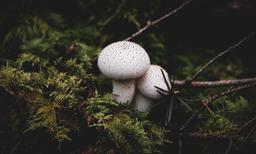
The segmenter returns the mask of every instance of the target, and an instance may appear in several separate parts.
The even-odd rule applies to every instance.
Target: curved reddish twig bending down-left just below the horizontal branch
[[[220,93],[220,94],[216,94],[216,95],[214,95],[210,100],[208,100],[208,101],[206,102],[206,105],[210,104],[210,102],[212,102],[212,101],[214,101],[214,100],[216,100],[216,99],[218,99],[218,98],[220,98],[220,97],[222,97],[222,96],[224,96],[224,95],[227,95],[227,94],[230,94],[230,93],[233,93],[233,92],[237,92],[237,91],[239,91],[239,90],[243,90],[243,89],[246,89],[246,88],[255,86],[255,85],[256,85],[256,82],[255,82],[255,83],[252,83],[252,84],[249,84],[249,85],[242,86],[242,87],[238,87],[238,88],[235,88],[235,89],[232,89],[232,90],[228,90],[228,91],[222,92],[222,93]],[[184,125],[181,127],[180,131],[184,130],[185,127],[187,126],[187,124],[188,124],[191,120],[193,120],[194,117],[195,117],[196,115],[198,115],[198,113],[204,109],[204,107],[205,107],[205,105],[203,105],[200,109],[198,109],[198,110],[184,123]]]

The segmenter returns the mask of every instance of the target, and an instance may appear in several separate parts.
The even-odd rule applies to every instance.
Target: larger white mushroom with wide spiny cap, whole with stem
[[[135,92],[133,80],[140,78],[149,66],[150,58],[145,50],[138,44],[128,41],[106,46],[98,58],[99,70],[113,79],[113,94],[116,94],[114,98],[118,102],[131,103]]]

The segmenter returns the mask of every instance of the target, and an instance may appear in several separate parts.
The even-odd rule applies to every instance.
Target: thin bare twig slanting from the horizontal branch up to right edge
[[[233,49],[237,48],[240,44],[242,44],[245,40],[247,40],[249,37],[251,37],[255,32],[252,32],[250,35],[248,35],[247,37],[245,37],[242,41],[240,41],[239,43],[237,43],[236,45],[230,46],[227,50],[225,50],[225,52],[221,53],[220,55],[218,55],[217,57],[215,57],[214,59],[212,59],[211,61],[209,61],[203,68],[201,68],[192,78],[188,79],[187,82],[190,83],[192,81],[194,81],[198,75],[200,75],[206,68],[208,68],[214,61],[216,61],[217,59],[219,59],[220,57],[222,57],[223,55],[227,54],[228,52],[231,52]]]

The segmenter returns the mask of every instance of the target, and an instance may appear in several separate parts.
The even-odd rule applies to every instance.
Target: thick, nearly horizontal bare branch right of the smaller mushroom
[[[174,81],[174,86],[176,87],[186,87],[186,88],[213,88],[213,87],[224,87],[224,86],[236,86],[245,85],[256,82],[256,78],[248,79],[236,79],[236,80],[223,80],[223,81],[203,81],[203,82],[191,82],[186,83],[183,81]]]

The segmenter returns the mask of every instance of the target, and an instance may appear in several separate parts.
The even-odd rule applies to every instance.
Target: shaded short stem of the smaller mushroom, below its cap
[[[135,90],[135,96],[133,99],[133,110],[141,112],[148,112],[146,109],[154,104],[152,99],[143,96],[138,90]]]

